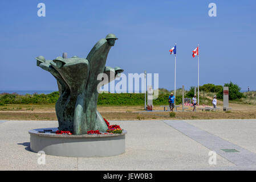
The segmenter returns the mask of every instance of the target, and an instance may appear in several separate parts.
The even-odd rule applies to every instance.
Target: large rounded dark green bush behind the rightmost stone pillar
[[[229,87],[229,100],[239,100],[243,96],[243,93],[240,92],[241,88],[237,84],[233,84],[233,82],[230,81],[229,84],[224,84],[224,86]],[[217,93],[218,99],[223,99],[223,88]]]

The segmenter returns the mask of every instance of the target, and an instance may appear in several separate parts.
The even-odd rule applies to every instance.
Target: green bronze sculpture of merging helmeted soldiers
[[[59,122],[59,130],[72,131],[75,135],[87,134],[89,130],[106,131],[104,119],[97,111],[99,96],[97,80],[100,73],[105,73],[110,82],[118,77],[123,69],[105,67],[108,52],[115,45],[116,36],[108,34],[99,40],[91,49],[87,58],[77,56],[64,59],[45,60],[43,56],[36,57],[37,65],[50,72],[57,80],[59,100],[55,110]]]

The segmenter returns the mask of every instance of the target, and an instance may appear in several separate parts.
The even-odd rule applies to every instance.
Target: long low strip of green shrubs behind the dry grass
[[[181,89],[178,89],[176,94],[176,104],[182,102]],[[188,93],[188,92],[185,92]],[[169,105],[168,97],[170,92],[165,89],[159,90],[159,97],[153,100],[153,105]],[[200,92],[200,105],[212,105],[212,99],[217,93],[214,92]],[[256,105],[256,92],[245,92],[244,98],[232,101],[237,104]],[[97,105],[113,106],[113,105],[144,105],[144,93],[100,93]],[[26,94],[20,96],[18,94],[0,94],[0,106],[7,106],[7,104],[17,105],[48,105],[55,104],[59,98],[59,92],[52,92],[51,94]],[[191,98],[185,95],[185,98]],[[218,98],[217,98],[218,99]],[[17,106],[19,107],[19,106]],[[30,107],[31,108],[31,107]],[[27,107],[25,108],[27,109]],[[27,109],[29,110],[29,109]],[[31,108],[34,110],[34,108]]]

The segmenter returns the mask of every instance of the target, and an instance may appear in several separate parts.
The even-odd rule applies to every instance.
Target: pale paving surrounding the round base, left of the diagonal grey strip
[[[128,131],[125,154],[105,158],[65,158],[46,155],[46,165],[29,150],[28,131],[57,127],[56,121],[9,121],[0,125],[0,170],[196,170],[235,165],[217,155],[209,165],[209,149],[163,121],[109,121]]]

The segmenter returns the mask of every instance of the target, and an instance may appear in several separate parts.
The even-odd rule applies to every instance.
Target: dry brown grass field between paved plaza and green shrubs
[[[230,111],[222,111],[222,102],[218,102],[218,111],[192,112],[192,107],[182,112],[178,108],[175,116],[170,117],[169,111],[154,106],[153,112],[144,111],[144,106],[98,106],[103,118],[108,120],[153,120],[153,119],[253,119],[256,118],[256,105],[231,102]],[[199,106],[202,107],[202,106]],[[156,111],[157,110],[157,111]],[[0,106],[0,120],[57,120],[55,105],[5,105]]]

